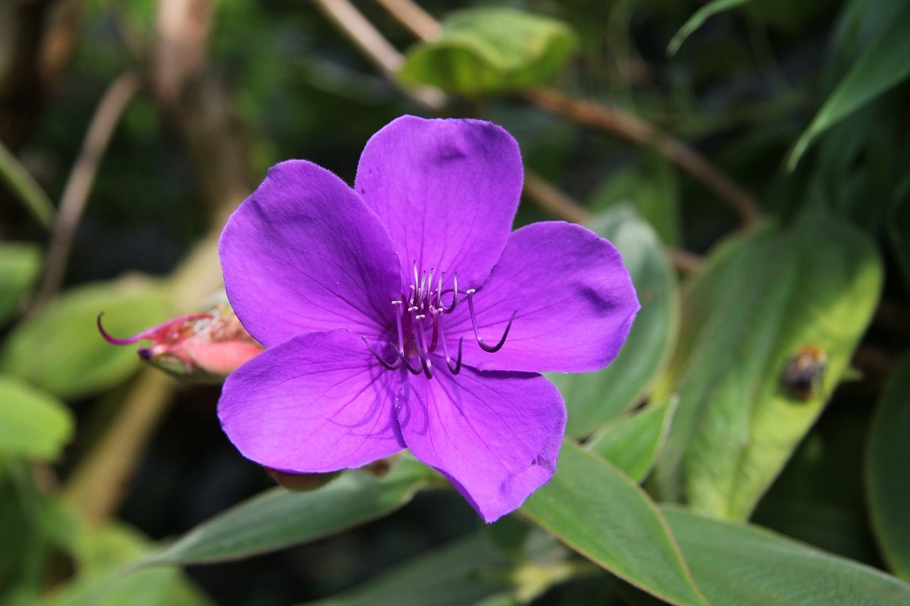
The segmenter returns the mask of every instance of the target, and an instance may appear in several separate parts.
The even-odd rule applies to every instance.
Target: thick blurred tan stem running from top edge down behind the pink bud
[[[227,215],[251,191],[248,183],[248,146],[223,86],[205,70],[208,0],[159,0],[156,69],[153,75],[159,108],[187,149],[198,187],[212,211],[212,228],[169,281],[177,313],[197,311],[205,298],[221,287],[217,240]],[[187,13],[188,11],[188,13]],[[195,11],[195,12],[194,12]],[[169,15],[169,16],[168,16]],[[174,15],[201,19],[182,24]],[[182,48],[183,52],[173,52]],[[188,61],[186,66],[165,66],[167,61]],[[173,88],[177,86],[177,88]],[[80,461],[65,490],[66,496],[89,520],[112,515],[136,463],[159,419],[167,411],[178,383],[157,369],[144,369],[130,386],[123,406],[105,435]]]

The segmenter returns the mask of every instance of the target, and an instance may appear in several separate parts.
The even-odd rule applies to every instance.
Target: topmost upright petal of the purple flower
[[[354,188],[388,227],[412,281],[444,271],[478,288],[500,257],[521,196],[521,153],[500,126],[401,116],[372,136]]]

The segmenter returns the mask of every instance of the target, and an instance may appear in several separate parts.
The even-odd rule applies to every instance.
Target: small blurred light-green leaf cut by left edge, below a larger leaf
[[[20,379],[0,376],[0,455],[55,460],[72,436],[66,404]]]

